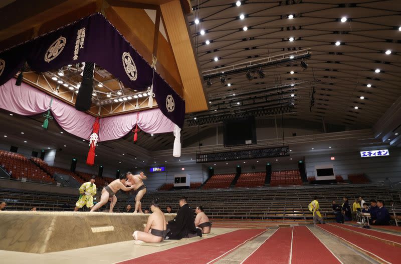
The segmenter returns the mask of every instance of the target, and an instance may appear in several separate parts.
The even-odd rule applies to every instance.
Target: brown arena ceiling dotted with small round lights
[[[187,115],[188,125],[227,115],[283,113],[351,129],[371,127],[401,95],[401,1],[192,0],[191,5],[188,23],[210,109]],[[305,69],[298,60],[250,70],[248,77],[223,73],[253,60],[296,58],[305,49],[311,54]],[[211,73],[220,75],[209,79]]]

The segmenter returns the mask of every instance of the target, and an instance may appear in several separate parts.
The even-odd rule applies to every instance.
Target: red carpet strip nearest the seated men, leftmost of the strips
[[[176,246],[164,251],[132,258],[124,264],[206,264],[245,242],[261,234],[266,229],[242,229],[230,233],[205,238],[197,242]],[[141,246],[141,245],[139,245]],[[217,259],[216,259],[217,260]]]

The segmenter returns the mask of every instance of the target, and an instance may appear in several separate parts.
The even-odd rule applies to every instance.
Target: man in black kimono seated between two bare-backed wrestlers
[[[186,197],[179,198],[177,216],[167,222],[166,239],[181,239],[194,236],[202,236],[202,230],[195,228],[193,210],[186,203]],[[200,230],[200,232],[199,232]]]

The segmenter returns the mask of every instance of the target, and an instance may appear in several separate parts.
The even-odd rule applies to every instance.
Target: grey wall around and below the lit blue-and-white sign
[[[348,174],[365,173],[371,181],[381,181],[386,177],[393,182],[401,180],[401,148],[390,148],[389,156],[361,158],[358,151],[330,155],[305,156],[308,177],[315,175],[315,165],[332,163],[334,173],[344,179]],[[335,160],[330,160],[334,156]]]

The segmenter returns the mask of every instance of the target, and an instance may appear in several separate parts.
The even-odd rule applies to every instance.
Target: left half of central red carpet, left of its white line
[[[291,235],[292,227],[280,227],[242,263],[287,264],[291,251]]]

